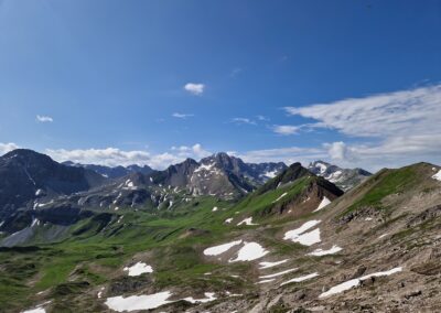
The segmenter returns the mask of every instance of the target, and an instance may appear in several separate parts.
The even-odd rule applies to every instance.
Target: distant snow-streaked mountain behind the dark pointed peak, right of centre
[[[355,187],[372,175],[372,173],[363,169],[342,169],[324,161],[311,162],[308,165],[308,170],[334,183],[343,191]]]

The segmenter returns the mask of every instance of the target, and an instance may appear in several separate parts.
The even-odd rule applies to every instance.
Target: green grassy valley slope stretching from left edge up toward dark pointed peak
[[[95,287],[108,283],[122,273],[118,271],[133,255],[149,251],[151,265],[155,269],[153,285],[157,290],[176,287],[192,287],[192,290],[240,291],[255,285],[244,279],[251,271],[249,263],[214,263],[202,258],[202,250],[211,245],[251,234],[259,238],[275,255],[292,253],[301,246],[276,240],[277,228],[268,228],[254,234],[257,226],[236,224],[254,216],[260,225],[266,220],[261,212],[287,193],[280,202],[290,201],[308,186],[311,177],[302,177],[295,183],[266,193],[252,193],[237,205],[204,197],[197,202],[182,204],[175,211],[133,212],[121,208],[112,213],[111,224],[103,227],[100,215],[82,220],[67,234],[69,239],[58,244],[40,245],[41,249],[21,252],[13,249],[0,253],[0,307],[12,312],[41,302],[39,292],[50,290],[45,299],[54,300],[60,310],[63,303],[76,303],[87,307],[96,303],[96,293],[85,295]],[[218,211],[213,212],[217,206]],[[117,220],[120,219],[120,223]],[[234,218],[225,224],[226,218]],[[106,217],[107,218],[107,217]],[[268,222],[268,220],[267,220]],[[189,228],[204,229],[203,236],[182,235]],[[75,234],[75,236],[69,236]],[[203,276],[205,272],[213,276]],[[73,274],[74,273],[74,274]],[[240,274],[234,279],[230,274]],[[85,282],[85,283],[84,283]],[[77,301],[77,294],[80,303]]]

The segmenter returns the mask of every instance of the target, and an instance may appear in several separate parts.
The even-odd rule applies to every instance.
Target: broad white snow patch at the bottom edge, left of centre
[[[117,312],[150,310],[173,302],[168,301],[172,293],[170,291],[158,292],[149,295],[130,295],[127,298],[118,295],[107,298],[105,304]]]

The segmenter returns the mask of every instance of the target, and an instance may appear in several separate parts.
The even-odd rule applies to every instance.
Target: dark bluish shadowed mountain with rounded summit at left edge
[[[32,150],[18,149],[0,156],[0,217],[31,206],[42,196],[67,195],[105,183],[94,171],[72,168]]]

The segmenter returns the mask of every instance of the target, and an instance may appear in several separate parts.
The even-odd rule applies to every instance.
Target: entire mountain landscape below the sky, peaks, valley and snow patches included
[[[0,156],[0,312],[440,312],[441,168]]]

